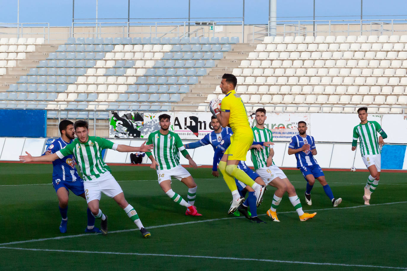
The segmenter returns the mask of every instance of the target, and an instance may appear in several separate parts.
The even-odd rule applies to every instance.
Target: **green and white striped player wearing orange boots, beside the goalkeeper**
[[[264,127],[264,122],[267,119],[266,110],[264,108],[258,108],[256,110],[256,126],[252,128],[254,141],[273,141],[273,135],[271,131]],[[277,218],[277,207],[281,202],[281,198],[287,191],[288,198],[291,204],[293,204],[295,210],[300,217],[300,221],[306,221],[313,218],[317,213],[309,214],[302,210],[300,198],[295,192],[294,186],[285,176],[284,172],[279,169],[273,161],[274,150],[273,145],[269,147],[263,147],[263,150],[252,149],[252,162],[256,173],[263,179],[265,184],[276,187],[276,192],[273,195],[273,201],[271,202],[271,208],[267,211],[267,215],[273,220],[279,222]]]

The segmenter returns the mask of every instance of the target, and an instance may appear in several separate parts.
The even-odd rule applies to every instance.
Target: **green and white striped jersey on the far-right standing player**
[[[353,140],[359,138],[362,156],[381,153],[377,137],[378,132],[382,133],[383,130],[377,121],[368,121],[366,124],[358,124],[353,128]]]

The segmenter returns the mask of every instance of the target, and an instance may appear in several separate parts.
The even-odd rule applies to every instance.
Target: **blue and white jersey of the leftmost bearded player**
[[[72,141],[73,140],[71,140],[70,143],[72,143]],[[69,143],[66,143],[60,137],[59,139],[55,139],[55,141],[53,141],[51,145],[49,145],[47,150],[50,150],[51,153],[55,153],[59,150],[62,150],[68,144]],[[74,182],[76,180],[81,180],[81,177],[79,177],[78,171],[75,167],[75,158],[73,155],[68,155],[61,159],[57,159],[53,161],[52,164],[54,167],[52,173],[53,180],[59,179],[61,181],[66,182]]]

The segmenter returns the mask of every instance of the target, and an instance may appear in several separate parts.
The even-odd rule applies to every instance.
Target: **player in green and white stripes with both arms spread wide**
[[[74,129],[78,138],[55,154],[33,157],[26,152],[27,155],[20,156],[20,161],[23,161],[23,163],[31,161],[51,162],[73,154],[83,175],[86,202],[88,202],[92,215],[101,218],[102,233],[107,234],[107,216],[99,209],[99,201],[103,192],[105,195],[112,197],[123,208],[130,219],[138,226],[143,237],[150,236],[150,232],[144,228],[136,210],[126,201],[123,190],[110,173],[111,170],[103,161],[101,153],[104,149],[117,150],[118,152],[146,152],[151,150],[153,146],[144,145],[144,142],[140,147],[130,147],[128,145],[114,144],[101,137],[90,137],[88,122],[83,120],[76,121]]]

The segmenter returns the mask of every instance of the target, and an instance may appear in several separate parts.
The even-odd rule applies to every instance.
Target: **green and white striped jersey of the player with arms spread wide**
[[[72,143],[66,145],[62,150],[56,152],[59,158],[73,154],[81,169],[83,180],[94,180],[102,173],[111,171],[105,164],[102,157],[102,150],[116,150],[117,144],[101,137],[89,137],[88,141],[81,143],[79,139],[74,139]]]

